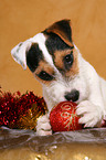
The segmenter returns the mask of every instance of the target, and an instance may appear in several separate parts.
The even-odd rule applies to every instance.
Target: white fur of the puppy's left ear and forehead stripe
[[[43,33],[38,33],[35,36],[19,43],[11,50],[11,55],[13,56],[14,61],[22,65],[24,70],[26,70],[26,57],[25,52],[30,49],[32,43],[39,43],[39,47],[44,52],[44,57],[46,62],[53,66],[53,61],[51,55],[47,53],[45,47],[45,36]]]

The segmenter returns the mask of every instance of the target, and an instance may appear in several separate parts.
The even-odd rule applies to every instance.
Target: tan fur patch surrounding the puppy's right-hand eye
[[[56,51],[54,53],[54,63],[55,66],[66,76],[66,77],[71,77],[71,76],[75,76],[80,68],[78,68],[78,62],[77,62],[77,51],[75,49],[73,49],[73,56],[74,56],[74,61],[73,64],[70,68],[70,71],[66,71],[64,67],[64,62],[63,58],[64,56],[66,56],[67,54],[71,53],[72,50],[65,50],[65,51]]]

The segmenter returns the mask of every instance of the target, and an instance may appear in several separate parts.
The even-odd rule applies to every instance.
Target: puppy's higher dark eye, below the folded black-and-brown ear
[[[64,66],[66,70],[70,70],[70,67],[73,64],[73,51],[71,52],[71,54],[67,54],[66,56],[64,56],[63,62],[64,62]]]

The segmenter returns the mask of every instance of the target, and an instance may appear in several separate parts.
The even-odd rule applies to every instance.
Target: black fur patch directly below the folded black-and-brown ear
[[[46,34],[49,38],[45,41],[45,45],[51,55],[54,55],[55,51],[63,51],[65,49],[72,49],[55,33],[46,33]]]

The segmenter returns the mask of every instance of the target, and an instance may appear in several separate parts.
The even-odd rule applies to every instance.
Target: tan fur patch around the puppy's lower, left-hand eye
[[[41,83],[43,83],[43,84],[46,84],[46,85],[49,85],[50,83],[51,83],[51,81],[43,81],[43,79],[41,79],[38,75],[40,74],[40,72],[42,72],[42,71],[44,71],[44,72],[46,72],[47,74],[50,74],[50,75],[54,75],[54,70],[53,70],[53,67],[51,67],[45,61],[41,61],[40,63],[39,63],[39,66],[38,66],[38,68],[35,70],[35,72],[33,73],[33,75],[36,77],[36,79],[38,81],[40,81]]]

